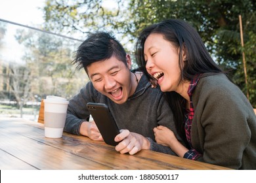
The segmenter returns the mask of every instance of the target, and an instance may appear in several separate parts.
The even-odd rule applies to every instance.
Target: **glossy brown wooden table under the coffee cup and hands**
[[[0,118],[0,169],[226,169],[168,154],[142,150],[131,156],[114,146],[63,133],[44,136],[43,124],[21,118]]]

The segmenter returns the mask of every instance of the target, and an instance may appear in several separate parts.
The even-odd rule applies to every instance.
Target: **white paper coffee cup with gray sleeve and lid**
[[[47,96],[43,102],[45,103],[45,137],[61,138],[69,102],[54,95]]]

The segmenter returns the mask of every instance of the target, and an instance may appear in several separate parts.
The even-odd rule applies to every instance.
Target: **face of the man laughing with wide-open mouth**
[[[125,103],[134,92],[127,56],[127,65],[116,57],[97,61],[87,67],[88,76],[95,89],[118,104]]]

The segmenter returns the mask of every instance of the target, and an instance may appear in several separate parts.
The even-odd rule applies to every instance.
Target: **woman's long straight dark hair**
[[[144,59],[144,43],[147,37],[152,33],[163,35],[163,38],[179,48],[179,68],[181,69],[181,80],[191,80],[196,75],[201,77],[223,73],[221,68],[213,61],[209,52],[205,48],[198,32],[183,20],[164,20],[158,24],[153,24],[145,29],[139,35],[136,51],[137,64],[152,83],[154,78],[146,71],[146,62]],[[182,48],[186,50],[186,61],[182,60]],[[173,111],[175,126],[179,135],[186,142],[184,132],[184,112],[186,108],[186,99],[176,92],[164,92],[165,97]]]

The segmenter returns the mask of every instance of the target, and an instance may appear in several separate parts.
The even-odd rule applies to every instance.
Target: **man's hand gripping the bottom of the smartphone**
[[[150,148],[150,142],[146,137],[130,132],[127,129],[121,130],[121,133],[116,136],[115,141],[119,142],[116,146],[116,151],[121,154],[129,152],[129,154],[133,155],[142,149]]]

